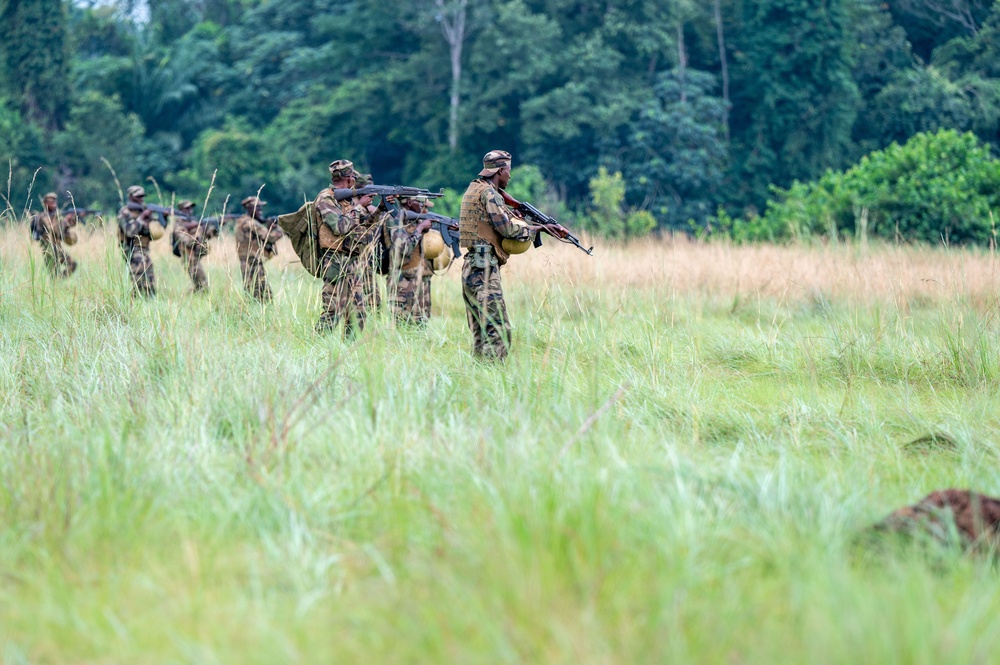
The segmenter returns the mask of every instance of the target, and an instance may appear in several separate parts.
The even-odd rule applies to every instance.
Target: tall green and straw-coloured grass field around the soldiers
[[[0,232],[3,663],[1000,662],[994,566],[857,545],[1000,494],[989,252],[547,247],[494,367],[457,270],[345,344],[288,247],[133,301],[83,235]]]

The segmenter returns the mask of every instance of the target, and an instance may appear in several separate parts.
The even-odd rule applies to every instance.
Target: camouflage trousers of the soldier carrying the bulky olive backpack
[[[365,327],[365,319],[381,304],[375,270],[367,258],[328,254],[323,258],[323,313],[317,332],[335,329],[344,321],[351,337]]]

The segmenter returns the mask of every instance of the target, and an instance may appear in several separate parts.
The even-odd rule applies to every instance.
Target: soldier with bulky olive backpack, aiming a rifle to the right
[[[370,208],[370,194],[337,201],[334,190],[356,187],[356,174],[346,159],[331,162],[331,185],[315,202],[323,271],[323,313],[316,330],[332,330],[344,320],[348,337],[364,328],[365,318],[380,304],[375,264],[384,224],[384,213]]]

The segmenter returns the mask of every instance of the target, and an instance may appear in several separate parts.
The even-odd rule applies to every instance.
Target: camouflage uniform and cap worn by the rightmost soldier
[[[459,241],[469,248],[462,266],[462,299],[472,331],[473,352],[477,357],[504,360],[510,350],[510,322],[500,284],[500,267],[510,255],[502,241],[528,241],[533,237],[528,225],[515,217],[499,191],[488,180],[503,166],[510,154],[493,150],[483,158],[483,170],[469,184],[462,197],[459,214]]]

